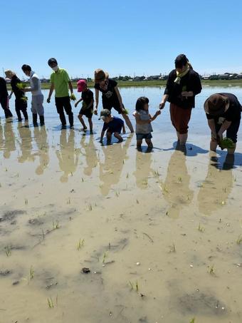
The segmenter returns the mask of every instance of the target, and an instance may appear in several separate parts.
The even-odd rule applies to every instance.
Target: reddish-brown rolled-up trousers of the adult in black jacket
[[[171,103],[169,108],[172,125],[178,133],[184,135],[188,131],[188,124],[191,118],[191,108],[180,108]]]

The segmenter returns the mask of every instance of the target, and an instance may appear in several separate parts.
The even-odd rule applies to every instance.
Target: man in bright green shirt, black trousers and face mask
[[[48,66],[53,69],[51,74],[51,88],[48,94],[47,102],[51,102],[51,95],[55,89],[55,100],[56,100],[56,109],[59,113],[61,123],[63,128],[65,128],[65,113],[68,115],[70,128],[73,127],[73,111],[70,104],[70,96],[68,92],[68,87],[70,88],[70,93],[73,94],[73,86],[70,82],[67,71],[64,68],[59,68],[56,58],[50,58],[48,60]]]

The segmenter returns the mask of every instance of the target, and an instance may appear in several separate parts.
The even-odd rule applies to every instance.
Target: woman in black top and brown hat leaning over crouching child
[[[125,107],[122,104],[122,98],[120,96],[120,91],[117,88],[117,82],[108,77],[108,73],[105,73],[101,69],[95,71],[95,98],[96,107],[95,114],[98,114],[98,101],[99,101],[99,91],[102,92],[102,107],[111,111],[112,108],[122,114],[122,118],[125,119],[127,126],[130,128],[130,132],[134,132],[134,128],[130,121],[129,116],[125,113]]]

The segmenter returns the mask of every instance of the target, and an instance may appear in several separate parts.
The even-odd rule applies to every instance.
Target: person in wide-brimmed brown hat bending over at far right
[[[234,143],[234,148],[228,148],[228,154],[233,154],[241,123],[241,103],[238,98],[231,93],[215,93],[206,99],[204,110],[211,129],[210,150],[216,151],[226,131],[226,137]]]

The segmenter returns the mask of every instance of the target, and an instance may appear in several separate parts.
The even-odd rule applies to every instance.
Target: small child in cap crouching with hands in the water
[[[102,121],[104,122],[100,136],[100,143],[102,143],[102,139],[105,135],[106,130],[107,144],[111,143],[112,133],[114,134],[115,138],[118,139],[118,142],[122,143],[122,137],[120,135],[121,130],[123,131],[123,133],[125,133],[125,123],[122,121],[122,119],[112,116],[110,111],[107,109],[101,111],[100,119],[102,119]]]

